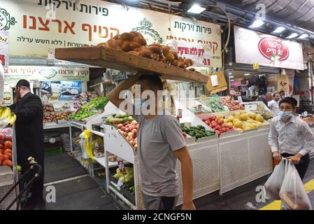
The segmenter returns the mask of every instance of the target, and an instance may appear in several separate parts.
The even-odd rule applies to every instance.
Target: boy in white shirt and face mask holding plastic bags
[[[279,102],[279,116],[271,120],[269,145],[273,158],[279,162],[281,158],[289,158],[304,179],[311,151],[314,148],[314,135],[310,127],[294,116],[297,100],[285,97]]]

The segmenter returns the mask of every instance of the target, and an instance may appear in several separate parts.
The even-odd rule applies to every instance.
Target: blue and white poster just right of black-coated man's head
[[[80,81],[41,82],[41,98],[43,101],[76,101],[82,93]]]

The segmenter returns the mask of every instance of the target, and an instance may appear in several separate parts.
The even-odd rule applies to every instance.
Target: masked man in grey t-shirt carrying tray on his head
[[[120,106],[124,99],[120,99],[119,94],[123,90],[129,90],[136,83],[141,86],[141,92],[150,90],[153,94],[149,99],[146,97],[136,99],[136,102],[141,100],[140,104],[145,104],[149,111],[134,116],[139,121],[138,155],[145,209],[169,210],[176,208],[179,195],[176,158],[181,162],[182,209],[195,209],[192,202],[192,160],[183,139],[180,123],[174,116],[157,114],[160,109],[157,92],[163,90],[162,80],[158,76],[146,74],[130,76],[117,85],[115,90],[110,92],[108,98],[115,106],[130,113],[129,110]],[[154,103],[155,106],[152,106]],[[130,103],[128,105],[131,106]],[[144,107],[141,105],[131,106],[133,114],[137,109],[142,109],[143,112]]]

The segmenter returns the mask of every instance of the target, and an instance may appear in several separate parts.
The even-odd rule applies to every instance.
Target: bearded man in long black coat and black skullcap
[[[41,99],[31,93],[27,80],[19,80],[15,88],[14,104],[10,109],[16,115],[15,136],[17,148],[17,164],[22,167],[22,174],[29,169],[29,157],[35,158],[43,167],[43,104]],[[43,209],[43,174],[36,179],[31,190],[31,198],[27,202],[29,209]]]

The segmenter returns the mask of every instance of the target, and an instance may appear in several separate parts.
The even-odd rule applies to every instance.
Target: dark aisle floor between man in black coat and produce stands
[[[48,186],[55,187],[56,202],[46,203],[46,210],[117,209],[99,184],[67,153],[45,156],[44,190]]]

